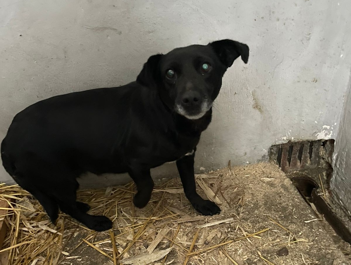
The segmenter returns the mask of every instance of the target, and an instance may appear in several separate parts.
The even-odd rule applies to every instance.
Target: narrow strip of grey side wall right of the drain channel
[[[344,102],[344,115],[336,139],[333,169],[331,191],[351,213],[351,86]]]

